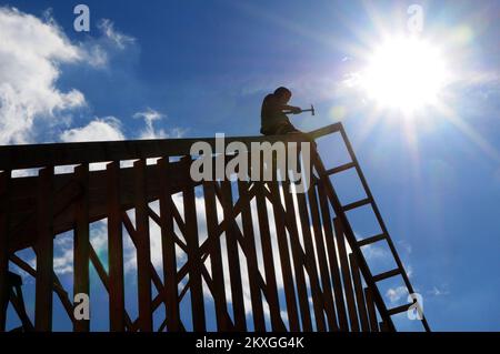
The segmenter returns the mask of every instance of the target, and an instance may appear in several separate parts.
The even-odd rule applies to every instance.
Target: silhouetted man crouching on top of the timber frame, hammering
[[[261,129],[260,132],[264,135],[280,135],[288,133],[300,133],[290,120],[288,113],[298,114],[302,110],[298,107],[288,105],[291,98],[291,91],[287,88],[278,88],[274,93],[269,93],[263,102],[260,113]]]

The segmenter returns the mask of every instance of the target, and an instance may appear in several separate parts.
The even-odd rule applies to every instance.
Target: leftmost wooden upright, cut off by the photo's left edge
[[[0,172],[0,332],[6,331],[7,306],[9,303],[9,202],[10,171]]]

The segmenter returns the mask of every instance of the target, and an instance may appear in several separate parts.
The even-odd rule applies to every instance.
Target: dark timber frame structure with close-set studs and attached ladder
[[[384,280],[399,277],[409,294],[413,289],[341,123],[308,139],[329,134],[340,134],[351,161],[326,169],[314,149],[307,193],[294,193],[289,180],[193,182],[191,145],[214,146],[214,139],[0,146],[0,332],[52,331],[54,294],[72,330],[90,331],[92,316],[73,315],[78,293],[108,299],[110,331],[396,331],[392,316],[409,321],[406,312],[419,304],[389,309],[384,301],[379,289]],[[226,143],[303,139],[226,138]],[[94,163],[104,169],[93,170]],[[68,165],[74,170],[54,173]],[[22,169],[39,171],[12,173]],[[357,173],[366,196],[342,205],[330,176],[344,171]],[[362,206],[374,213],[381,232],[358,240],[348,212]],[[102,220],[104,256],[91,242],[91,224]],[[159,262],[151,253],[153,225],[161,240]],[[54,240],[64,234],[73,244],[72,294],[54,272]],[[126,237],[137,262],[131,283],[124,274]],[[362,250],[381,242],[396,267],[372,274]],[[27,249],[36,261],[18,255]],[[91,266],[104,294],[90,292]],[[34,280],[32,304],[26,304],[13,270]],[[137,318],[126,305],[130,286],[137,286]],[[9,314],[21,325],[9,328]],[[418,322],[430,331],[426,317]]]

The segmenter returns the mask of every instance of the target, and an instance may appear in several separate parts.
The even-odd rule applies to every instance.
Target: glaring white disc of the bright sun
[[[447,68],[437,48],[417,38],[392,38],[377,48],[362,75],[367,94],[381,108],[407,115],[439,103]]]

